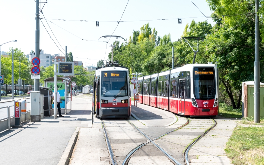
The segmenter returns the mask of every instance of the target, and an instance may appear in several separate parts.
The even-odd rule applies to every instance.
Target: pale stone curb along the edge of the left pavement
[[[79,130],[80,130],[80,127],[76,127],[70,140],[68,141],[68,144],[65,150],[62,153],[62,157],[60,158],[58,165],[67,165],[69,163],[69,158],[71,157],[73,147],[77,141]]]

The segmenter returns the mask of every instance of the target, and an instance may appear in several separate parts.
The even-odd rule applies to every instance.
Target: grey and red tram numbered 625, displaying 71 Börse
[[[96,68],[93,111],[100,118],[128,118],[131,116],[128,68],[122,66]]]

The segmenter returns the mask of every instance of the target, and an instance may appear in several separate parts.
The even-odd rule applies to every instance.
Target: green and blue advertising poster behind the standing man
[[[47,82],[47,87],[52,88],[52,94],[54,92],[54,82]],[[65,108],[65,82],[57,82],[58,92],[60,95],[60,106],[62,109]],[[54,104],[52,104],[52,108],[54,108]]]

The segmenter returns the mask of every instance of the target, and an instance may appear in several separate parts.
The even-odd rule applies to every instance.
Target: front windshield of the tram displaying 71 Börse
[[[126,71],[102,72],[102,96],[120,97],[128,95]]]

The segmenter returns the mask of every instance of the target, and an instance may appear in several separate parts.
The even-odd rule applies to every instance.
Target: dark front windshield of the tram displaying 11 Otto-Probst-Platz
[[[215,71],[213,67],[195,67],[193,80],[196,99],[215,99]]]

